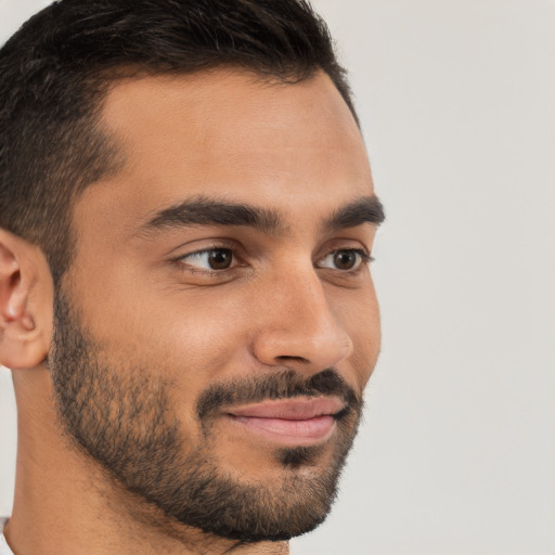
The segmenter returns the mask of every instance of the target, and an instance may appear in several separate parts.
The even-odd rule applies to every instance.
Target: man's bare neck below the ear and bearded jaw
[[[170,520],[74,447],[59,424],[48,371],[14,372],[14,383],[17,468],[4,533],[17,555],[288,553],[286,542],[245,544]]]

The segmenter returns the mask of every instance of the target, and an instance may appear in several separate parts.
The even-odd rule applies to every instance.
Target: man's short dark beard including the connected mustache
[[[111,364],[102,352],[59,293],[48,362],[59,420],[70,442],[135,502],[160,509],[172,529],[185,525],[242,542],[288,540],[325,519],[362,412],[362,398],[335,370],[211,384],[196,399],[189,433],[163,373],[147,364]],[[214,450],[222,406],[299,396],[345,401],[331,444],[276,448],[279,478],[272,473],[263,482],[248,480],[241,468],[222,468]],[[195,444],[195,437],[203,440]]]

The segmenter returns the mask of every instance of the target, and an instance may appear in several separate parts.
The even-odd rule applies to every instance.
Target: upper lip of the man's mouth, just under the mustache
[[[283,418],[305,421],[323,415],[334,415],[345,409],[345,402],[337,397],[298,397],[246,404],[227,411],[233,416],[254,418]]]

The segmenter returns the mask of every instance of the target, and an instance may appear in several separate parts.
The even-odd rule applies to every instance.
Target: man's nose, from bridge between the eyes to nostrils
[[[253,343],[264,365],[318,373],[352,352],[352,340],[333,313],[315,271],[272,280]]]

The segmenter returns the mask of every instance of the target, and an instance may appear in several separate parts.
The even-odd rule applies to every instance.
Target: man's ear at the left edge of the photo
[[[31,369],[46,359],[53,291],[42,250],[0,229],[0,364]]]

